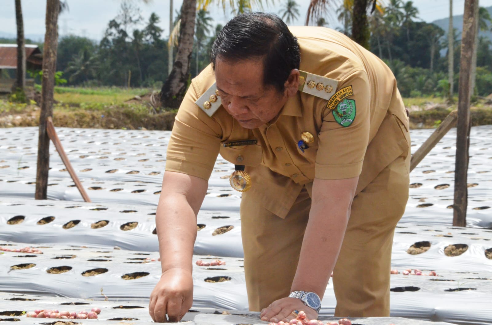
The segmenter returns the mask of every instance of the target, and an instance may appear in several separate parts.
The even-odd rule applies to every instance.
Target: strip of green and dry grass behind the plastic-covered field
[[[39,86],[36,86],[39,88]],[[152,112],[149,88],[120,87],[55,87],[53,120],[58,127],[171,130],[176,110],[159,114]],[[140,96],[143,100],[134,99]],[[410,108],[410,127],[435,128],[449,112],[457,108],[458,98],[448,105],[439,97],[403,98]],[[32,99],[28,104],[0,96],[0,127],[37,126],[39,106]],[[492,124],[492,106],[486,99],[478,99],[470,109],[473,126]]]

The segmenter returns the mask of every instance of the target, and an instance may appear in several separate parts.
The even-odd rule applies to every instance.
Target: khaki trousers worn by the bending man
[[[408,199],[409,160],[410,155],[397,158],[353,200],[332,278],[337,317],[390,314],[391,249],[395,226]],[[312,183],[303,188],[285,219],[250,202],[247,195],[241,201],[251,311],[260,311],[290,293],[309,215],[311,188]],[[319,257],[323,258],[322,251]]]

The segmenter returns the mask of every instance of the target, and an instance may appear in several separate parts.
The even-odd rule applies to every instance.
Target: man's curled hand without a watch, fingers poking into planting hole
[[[191,272],[180,268],[169,269],[162,274],[152,291],[149,314],[157,323],[179,322],[192,303]]]

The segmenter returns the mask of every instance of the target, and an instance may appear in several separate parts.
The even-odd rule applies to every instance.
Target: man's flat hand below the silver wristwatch
[[[310,320],[315,320],[318,318],[318,313],[307,307],[300,299],[288,297],[272,302],[268,308],[264,308],[261,311],[260,317],[262,321],[266,322],[278,323],[282,321],[288,323],[296,318],[292,313],[294,310],[303,310],[306,313],[307,318]]]

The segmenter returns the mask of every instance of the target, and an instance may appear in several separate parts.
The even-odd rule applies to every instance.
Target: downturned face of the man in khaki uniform
[[[255,129],[274,119],[287,94],[263,84],[263,61],[230,62],[216,58],[215,81],[222,106],[242,127]]]

